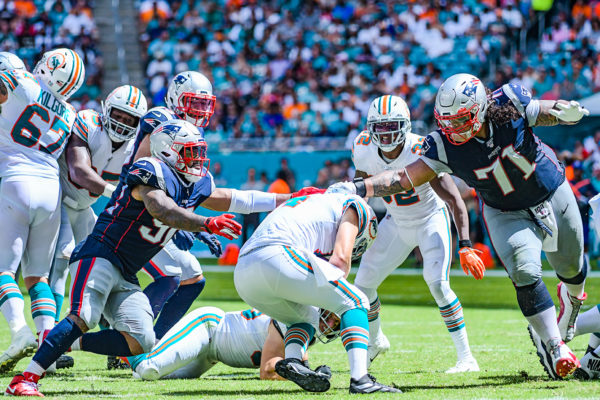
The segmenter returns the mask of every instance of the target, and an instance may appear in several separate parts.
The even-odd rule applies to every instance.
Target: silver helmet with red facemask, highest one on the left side
[[[208,78],[195,71],[175,75],[165,97],[167,107],[179,118],[202,128],[208,126],[216,101]]]

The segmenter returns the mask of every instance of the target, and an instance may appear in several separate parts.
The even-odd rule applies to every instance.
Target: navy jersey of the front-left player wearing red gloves
[[[127,173],[116,202],[98,217],[94,230],[71,256],[71,262],[101,257],[109,260],[132,283],[135,274],[171,240],[177,229],[164,225],[146,210],[131,189],[145,185],[164,190],[178,206],[195,209],[214,190],[207,173],[196,183],[186,183],[167,164],[156,158],[141,158]]]

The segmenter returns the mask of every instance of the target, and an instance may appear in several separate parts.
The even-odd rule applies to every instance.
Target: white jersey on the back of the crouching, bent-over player
[[[265,218],[240,254],[266,245],[284,245],[328,257],[333,253],[342,216],[349,207],[358,213],[360,235],[369,224],[368,205],[361,197],[326,193],[290,199]]]

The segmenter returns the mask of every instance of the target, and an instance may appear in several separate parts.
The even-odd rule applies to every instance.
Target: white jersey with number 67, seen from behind
[[[32,74],[4,71],[8,99],[0,105],[0,176],[58,179],[57,159],[75,122],[75,109]]]

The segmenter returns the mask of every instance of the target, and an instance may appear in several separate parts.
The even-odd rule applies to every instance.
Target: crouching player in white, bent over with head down
[[[362,198],[318,194],[277,208],[240,250],[235,287],[246,303],[286,324],[285,359],[275,370],[305,390],[324,392],[330,386],[328,376],[301,361],[315,334],[319,307],[341,317],[350,392],[400,392],[367,374],[369,303],[346,280],[352,259],[376,234],[375,213]]]

